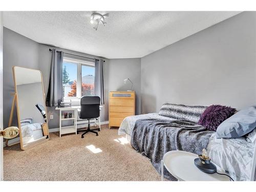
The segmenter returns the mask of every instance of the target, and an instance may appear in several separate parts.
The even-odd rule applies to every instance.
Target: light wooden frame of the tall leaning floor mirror
[[[34,71],[38,71],[41,74],[41,84],[42,84],[42,97],[44,99],[44,106],[46,109],[46,122],[43,123],[44,127],[42,126],[42,132],[46,131],[48,132],[48,138],[44,139],[44,140],[39,140],[39,141],[35,141],[32,142],[30,145],[24,147],[23,145],[23,137],[22,137],[22,130],[21,130],[21,125],[20,125],[20,115],[19,115],[19,104],[18,104],[18,93],[17,93],[17,84],[16,84],[16,77],[15,77],[15,68],[24,68],[24,67],[19,67],[19,66],[13,66],[12,67],[12,72],[13,72],[13,81],[14,81],[14,90],[15,90],[15,95],[16,95],[16,109],[17,109],[17,119],[18,119],[18,128],[19,128],[19,140],[20,140],[20,148],[22,150],[27,150],[28,148],[34,147],[36,145],[39,145],[41,143],[44,143],[46,141],[48,141],[50,139],[49,136],[49,126],[48,126],[48,115],[47,115],[47,109],[46,109],[46,98],[45,98],[45,90],[44,90],[44,82],[42,80],[42,72],[40,70],[36,70],[36,69],[30,69],[30,68],[24,68],[24,69],[29,69],[29,70],[34,70]]]

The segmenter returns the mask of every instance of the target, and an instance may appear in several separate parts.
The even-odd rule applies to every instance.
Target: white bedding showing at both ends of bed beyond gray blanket
[[[126,134],[131,138],[136,120],[147,118],[174,120],[158,113],[129,116],[122,121],[118,135]],[[250,180],[254,144],[249,143],[245,138],[217,139],[213,134],[209,139],[207,152],[212,162],[225,169],[234,180]]]

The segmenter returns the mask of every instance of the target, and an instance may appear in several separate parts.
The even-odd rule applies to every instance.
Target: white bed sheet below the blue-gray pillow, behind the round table
[[[236,181],[249,181],[254,144],[246,138],[217,139],[213,134],[210,137],[207,153],[212,162],[227,170]]]

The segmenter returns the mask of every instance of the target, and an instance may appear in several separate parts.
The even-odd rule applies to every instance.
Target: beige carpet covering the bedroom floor
[[[35,181],[159,181],[150,160],[137,153],[103,125],[99,136],[81,139],[70,134],[21,151],[19,144],[4,148],[5,180]],[[89,147],[89,148],[88,148]]]

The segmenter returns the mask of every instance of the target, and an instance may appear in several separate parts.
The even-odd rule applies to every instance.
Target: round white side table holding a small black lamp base
[[[194,164],[198,155],[184,151],[170,151],[164,154],[161,162],[161,178],[163,181],[163,166],[179,181],[229,181],[224,175],[207,174],[202,172]],[[217,166],[218,173],[224,173]]]

